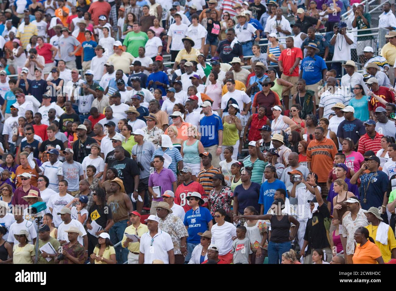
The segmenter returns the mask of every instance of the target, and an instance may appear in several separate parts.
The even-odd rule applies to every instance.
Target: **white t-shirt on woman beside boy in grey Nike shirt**
[[[211,244],[217,245],[219,248],[219,255],[222,256],[229,253],[232,249],[233,242],[231,238],[236,236],[236,227],[234,224],[225,221],[222,226],[219,226],[216,223],[212,226],[211,233]]]

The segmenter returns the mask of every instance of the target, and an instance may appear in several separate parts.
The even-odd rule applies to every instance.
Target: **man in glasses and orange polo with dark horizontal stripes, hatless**
[[[307,148],[308,170],[318,175],[318,186],[322,189],[322,196],[327,196],[326,181],[333,168],[333,160],[337,154],[337,146],[331,139],[324,136],[324,129],[320,126],[314,131],[315,139]]]

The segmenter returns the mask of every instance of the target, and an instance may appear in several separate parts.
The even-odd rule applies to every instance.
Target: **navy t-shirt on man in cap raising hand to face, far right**
[[[380,207],[384,200],[384,193],[388,189],[388,175],[383,171],[376,171],[361,175],[360,181],[362,182],[360,186],[362,208],[368,210],[370,207]],[[367,200],[366,203],[363,202],[364,198]]]

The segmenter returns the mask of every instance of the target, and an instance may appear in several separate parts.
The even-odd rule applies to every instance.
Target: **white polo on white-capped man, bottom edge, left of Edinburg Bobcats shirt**
[[[140,252],[145,255],[145,264],[152,264],[154,260],[161,260],[169,264],[168,251],[173,249],[171,236],[158,228],[158,233],[152,238],[150,231],[140,238]]]

